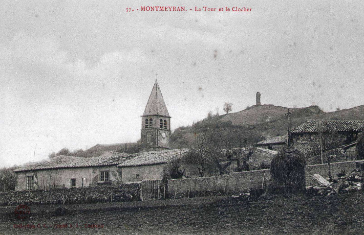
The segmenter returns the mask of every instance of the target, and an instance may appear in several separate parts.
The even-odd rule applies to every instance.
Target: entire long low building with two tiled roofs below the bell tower
[[[195,160],[192,149],[136,154],[108,151],[93,158],[57,156],[49,161],[28,164],[14,170],[17,174],[16,190],[93,187],[164,177],[169,179],[169,170],[173,165],[178,165],[185,176],[197,177],[198,163]]]

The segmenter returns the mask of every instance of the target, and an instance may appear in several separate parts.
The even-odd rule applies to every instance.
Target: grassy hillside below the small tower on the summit
[[[192,126],[177,128],[171,136],[172,147],[193,146],[194,135],[201,133],[206,127],[216,129],[217,133],[223,136],[240,133],[253,142],[283,135],[287,131],[288,109],[291,112],[292,127],[300,125],[307,119],[364,119],[364,105],[329,113],[323,112],[318,106],[306,108],[252,106],[236,113],[205,118]]]

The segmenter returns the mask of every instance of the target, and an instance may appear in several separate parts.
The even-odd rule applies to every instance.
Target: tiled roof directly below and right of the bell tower
[[[122,164],[119,164],[118,166],[123,167],[167,163],[168,161],[180,155],[184,155],[190,151],[192,150],[189,148],[181,148],[139,153],[134,157],[128,158],[126,161],[124,161]]]

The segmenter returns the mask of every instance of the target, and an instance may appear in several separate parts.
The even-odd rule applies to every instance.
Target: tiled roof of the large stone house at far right
[[[316,125],[322,122],[322,127],[335,132],[361,132],[364,131],[364,120],[307,120],[295,129],[292,134],[316,133]]]

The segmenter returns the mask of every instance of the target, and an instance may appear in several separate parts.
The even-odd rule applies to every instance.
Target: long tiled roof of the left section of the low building
[[[94,157],[94,158],[82,158],[82,157],[60,155],[47,161],[26,164],[21,168],[14,170],[14,172],[26,171],[26,170],[54,169],[54,168],[117,165],[122,163],[132,155],[133,154],[116,153],[110,151],[99,157]]]

